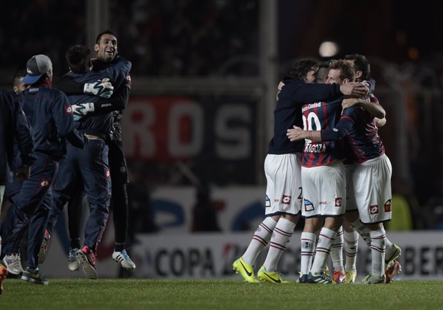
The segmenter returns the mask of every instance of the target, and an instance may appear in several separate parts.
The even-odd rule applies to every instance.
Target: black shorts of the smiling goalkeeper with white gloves
[[[111,140],[107,138],[106,143],[109,147],[109,170],[111,170],[112,184],[129,183],[127,176],[127,165],[123,143],[120,140]]]

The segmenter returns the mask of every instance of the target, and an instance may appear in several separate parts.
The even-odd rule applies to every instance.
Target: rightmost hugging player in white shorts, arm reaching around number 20
[[[341,71],[345,64],[332,66],[329,71],[330,80],[345,82],[341,77]],[[363,102],[362,102],[363,101]],[[343,100],[343,105],[370,104],[361,99]],[[379,118],[384,118],[384,110],[379,106]],[[368,226],[371,239],[372,267],[371,273],[363,282],[368,284],[385,283],[385,250],[386,232],[383,221],[389,221],[391,217],[390,176],[392,167],[389,158],[384,154],[384,147],[377,134],[374,117],[361,107],[352,107],[343,111],[340,121],[332,129],[321,131],[302,130],[296,128],[290,135],[291,140],[309,138],[316,141],[339,141],[347,135],[347,143],[352,148],[352,158],[356,162],[352,173],[351,192],[354,193],[356,206],[359,209],[361,222]],[[348,155],[348,158],[351,156]],[[368,185],[369,184],[369,185]],[[352,222],[354,224],[354,222]],[[392,247],[395,248],[395,247]]]

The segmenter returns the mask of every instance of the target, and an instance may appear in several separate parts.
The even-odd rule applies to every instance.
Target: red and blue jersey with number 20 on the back
[[[331,102],[314,102],[302,107],[305,130],[332,129],[340,119],[343,98]],[[317,167],[329,165],[345,158],[341,141],[315,142],[305,139],[302,166]]]

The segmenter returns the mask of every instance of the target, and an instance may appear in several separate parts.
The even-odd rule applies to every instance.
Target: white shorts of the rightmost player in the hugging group
[[[392,166],[386,154],[355,164],[352,181],[363,224],[377,224],[391,219],[391,176]]]

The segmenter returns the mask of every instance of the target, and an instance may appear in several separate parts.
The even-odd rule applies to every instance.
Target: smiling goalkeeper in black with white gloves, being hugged
[[[97,53],[96,60],[93,60],[92,72],[107,74],[109,71],[116,71],[119,64],[124,60],[118,55],[118,44],[116,34],[111,30],[105,30],[97,36],[94,49]],[[114,68],[116,67],[116,68]],[[111,206],[114,208],[114,226],[116,244],[112,258],[119,262],[123,268],[132,270],[136,268],[125,249],[128,228],[128,200],[126,184],[128,182],[125,153],[123,152],[122,134],[120,121],[123,117],[122,110],[127,105],[131,80],[129,73],[120,72],[118,82],[114,84],[116,96],[105,102],[98,101],[78,104],[73,107],[74,115],[80,120],[91,113],[109,113],[113,111],[113,122],[110,134],[106,137],[109,146],[109,169],[111,173]],[[86,84],[69,83],[67,80],[59,87],[68,94],[83,93],[87,89]],[[79,207],[80,208],[80,207]],[[71,235],[71,239],[78,237]],[[48,239],[46,239],[48,241]],[[42,244],[42,251],[47,248],[48,242]]]

